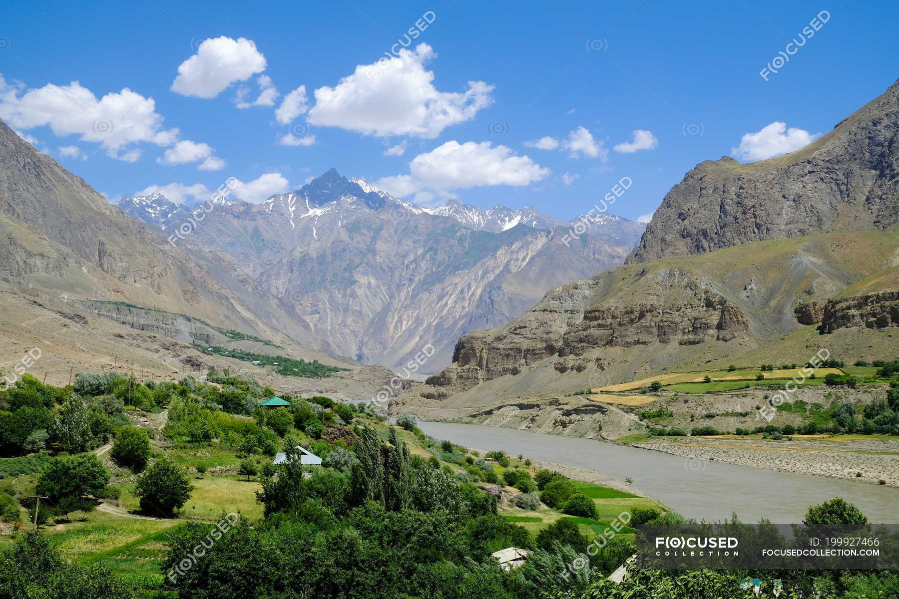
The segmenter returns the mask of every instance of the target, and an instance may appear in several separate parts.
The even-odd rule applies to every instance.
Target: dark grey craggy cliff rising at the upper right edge
[[[899,82],[791,154],[699,163],[665,196],[628,263],[899,222]]]

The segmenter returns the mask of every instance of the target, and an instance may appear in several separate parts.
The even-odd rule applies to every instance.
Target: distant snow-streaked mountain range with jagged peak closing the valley
[[[120,207],[166,238],[191,216],[159,197]],[[571,242],[568,225],[527,207],[419,207],[332,169],[258,205],[216,206],[177,243],[234,293],[278,298],[307,331],[296,339],[387,366],[432,345],[422,369],[435,372],[459,335],[620,264],[643,229],[601,215]]]

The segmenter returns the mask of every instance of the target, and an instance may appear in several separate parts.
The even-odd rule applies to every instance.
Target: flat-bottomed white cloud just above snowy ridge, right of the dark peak
[[[529,156],[512,154],[505,145],[491,147],[490,142],[449,141],[415,156],[409,163],[409,172],[385,177],[376,185],[400,197],[427,189],[445,195],[452,189],[479,186],[521,187],[540,181],[549,174],[549,169],[534,163]]]

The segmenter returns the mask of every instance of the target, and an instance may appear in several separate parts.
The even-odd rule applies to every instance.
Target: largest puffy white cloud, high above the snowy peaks
[[[356,66],[334,87],[316,89],[309,123],[377,137],[432,139],[450,125],[474,119],[493,102],[494,86],[469,81],[465,92],[438,92],[433,72],[424,68],[436,56],[419,44],[414,51],[400,49],[398,57]]]

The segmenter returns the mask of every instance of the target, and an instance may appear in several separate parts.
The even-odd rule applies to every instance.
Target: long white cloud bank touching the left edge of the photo
[[[22,92],[22,87],[6,84],[0,76],[0,119],[13,128],[47,126],[58,137],[80,136],[81,141],[101,144],[111,157],[127,162],[140,155],[137,149],[126,150],[128,145],[165,146],[178,138],[177,128],[162,128],[164,119],[152,98],[126,87],[98,100],[76,81]]]

